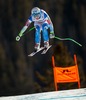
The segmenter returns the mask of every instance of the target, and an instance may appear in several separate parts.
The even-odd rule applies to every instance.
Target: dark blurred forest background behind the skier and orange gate
[[[33,7],[45,10],[54,25],[55,35],[71,41],[50,40],[46,55],[27,55],[34,50],[35,30],[19,42],[19,34]],[[52,55],[57,66],[74,64],[77,55],[81,88],[86,87],[86,0],[0,0],[0,96],[54,91]],[[77,88],[76,83],[61,84],[59,90]]]

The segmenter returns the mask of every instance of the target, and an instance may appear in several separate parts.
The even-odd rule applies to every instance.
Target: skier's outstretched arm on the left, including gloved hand
[[[28,26],[30,25],[31,22],[32,22],[31,17],[29,17],[28,20],[26,21],[26,24],[21,29],[19,35],[16,37],[16,41],[19,41],[20,40],[20,37],[23,36],[24,32],[27,30],[27,28],[28,28]]]

